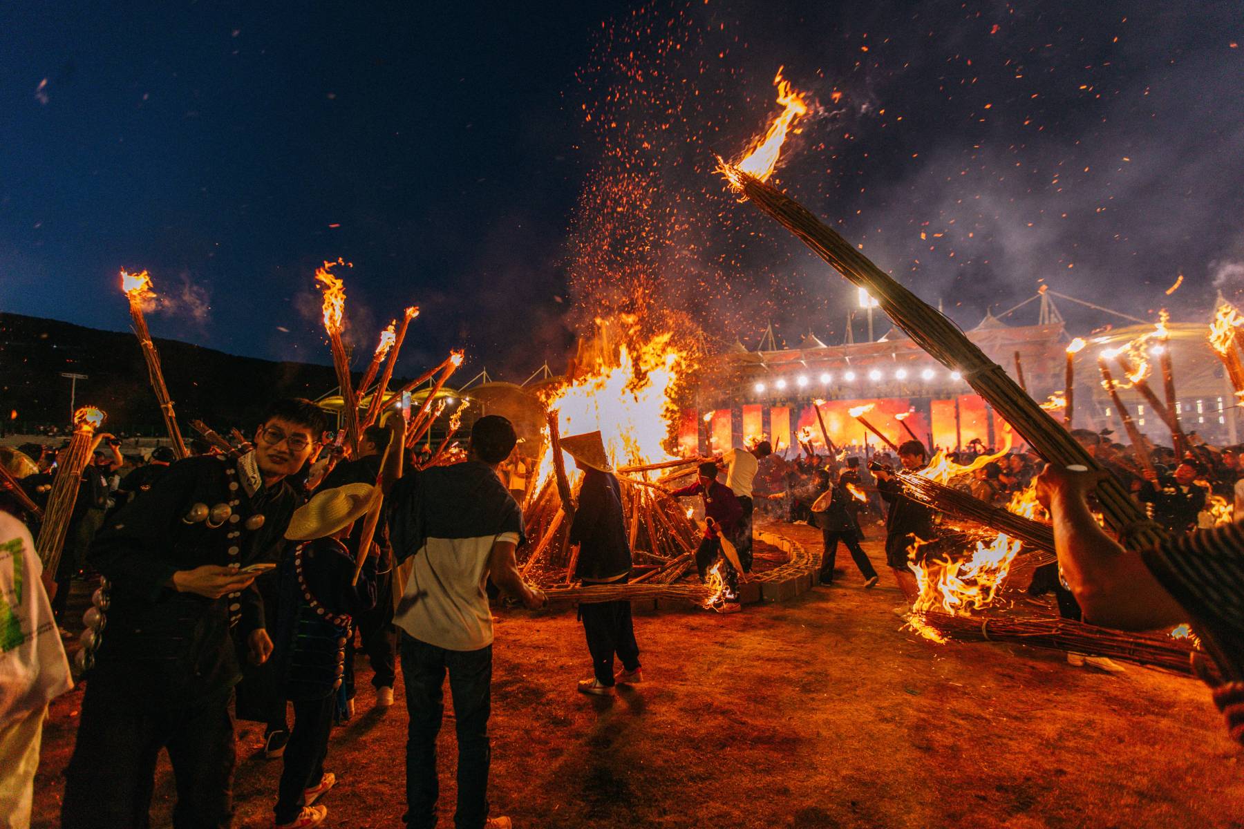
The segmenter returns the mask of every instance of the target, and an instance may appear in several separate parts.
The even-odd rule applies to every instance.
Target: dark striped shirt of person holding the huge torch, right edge
[[[1217,645],[1228,679],[1244,679],[1244,526],[1172,536],[1141,552],[1144,566]]]

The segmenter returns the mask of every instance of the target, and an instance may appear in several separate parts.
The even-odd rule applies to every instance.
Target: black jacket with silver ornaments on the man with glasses
[[[165,583],[203,564],[276,563],[297,503],[284,481],[262,485],[253,454],[169,466],[112,516],[91,547],[108,605],[90,679],[153,707],[193,705],[236,684],[230,629],[245,639],[264,626],[255,587],[208,599]]]

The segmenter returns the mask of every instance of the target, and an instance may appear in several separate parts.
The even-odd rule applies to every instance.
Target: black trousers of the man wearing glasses
[[[63,829],[147,829],[156,758],[168,749],[177,778],[175,829],[233,823],[234,723],[229,692],[151,710],[126,689],[92,679],[82,697],[73,757],[65,769]]]

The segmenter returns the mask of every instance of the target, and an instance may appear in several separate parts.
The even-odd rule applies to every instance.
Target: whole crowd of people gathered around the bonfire
[[[122,455],[119,440],[98,435],[61,566],[41,578],[46,589],[22,587],[42,575],[32,541],[37,516],[0,490],[0,554],[12,562],[2,587],[16,597],[0,661],[0,794],[16,805],[0,819],[21,825],[22,814],[29,818],[47,705],[72,684],[57,621],[73,579],[91,573],[101,587],[81,640],[86,692],[66,771],[66,828],[147,825],[160,749],[177,782],[174,825],[230,825],[235,716],[264,723],[266,756],[282,758],[274,825],[318,825],[327,815],[318,800],[337,782],[327,768],[332,726],[355,713],[356,646],[371,662],[377,707],[393,705],[397,671],[403,676],[407,825],[437,822],[447,677],[458,741],[455,822],[510,825],[490,817],[488,803],[488,585],[526,608],[546,600],[516,567],[531,466],[514,454],[515,430],[504,418],[480,418],[464,462],[424,466],[427,459],[403,445],[397,414],[364,430],[348,456],[331,451],[325,429],[312,403],[277,400],[233,451],[197,446],[175,461],[157,449],[141,465]],[[1054,590],[1065,616],[1137,630],[1197,625],[1205,641],[1198,672],[1214,687],[1233,736],[1244,740],[1244,533],[1234,523],[1213,528],[1222,516],[1210,508],[1237,492],[1238,452],[1197,441],[1183,457],[1158,449],[1142,459],[1106,434],[1074,435],[1106,471],[1050,469],[1031,454],[974,445],[953,460],[991,459],[960,486],[1005,503],[1035,481],[1059,563],[1039,572],[1030,592]],[[582,472],[571,575],[585,585],[624,584],[632,551],[601,435],[571,435],[562,447]],[[58,472],[55,451],[4,449],[0,462],[46,505]],[[939,517],[908,497],[899,472],[928,462],[917,440],[894,454],[829,459],[805,447],[789,460],[760,441],[703,459],[693,482],[667,492],[703,507],[695,567],[700,579],[720,574],[720,613],[740,609],[756,512],[820,528],[824,585],[836,582],[841,544],[863,587],[875,587],[880,575],[860,542],[883,527],[886,563],[911,603],[909,563],[937,549]],[[1087,497],[1108,474],[1131,487],[1153,522],[1174,531],[1168,542],[1135,553],[1102,531]],[[578,691],[600,696],[643,682],[628,600],[582,604],[580,620],[592,672]],[[1110,669],[1108,660],[1096,664]]]

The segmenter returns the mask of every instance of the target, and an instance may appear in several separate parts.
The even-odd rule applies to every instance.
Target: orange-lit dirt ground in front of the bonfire
[[[816,531],[782,526],[805,543]],[[866,549],[881,568],[880,543]],[[641,615],[647,681],[585,697],[573,613],[499,611],[493,814],[519,829],[661,827],[1244,827],[1244,752],[1192,679],[1110,675],[1013,645],[937,646],[901,630],[889,570],[843,575],[744,613]],[[360,711],[333,733],[330,827],[396,827],[406,716]],[[81,694],[45,731],[35,827],[55,827]],[[447,694],[448,706],[448,694]],[[271,825],[280,761],[240,726],[236,825]],[[453,723],[442,736],[442,825],[452,825]],[[153,825],[168,825],[162,761]]]

